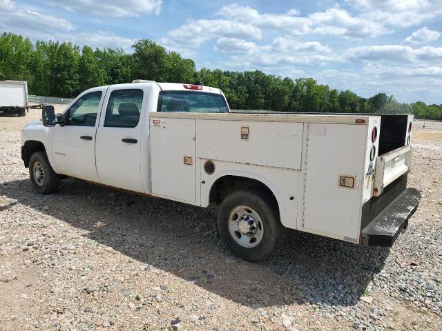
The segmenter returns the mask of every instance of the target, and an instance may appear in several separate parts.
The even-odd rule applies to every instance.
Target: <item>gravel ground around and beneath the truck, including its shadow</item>
[[[0,117],[0,330],[442,330],[442,130],[416,129],[423,199],[392,249],[291,231],[248,263],[215,209],[75,179],[33,193],[19,151],[35,118]]]

